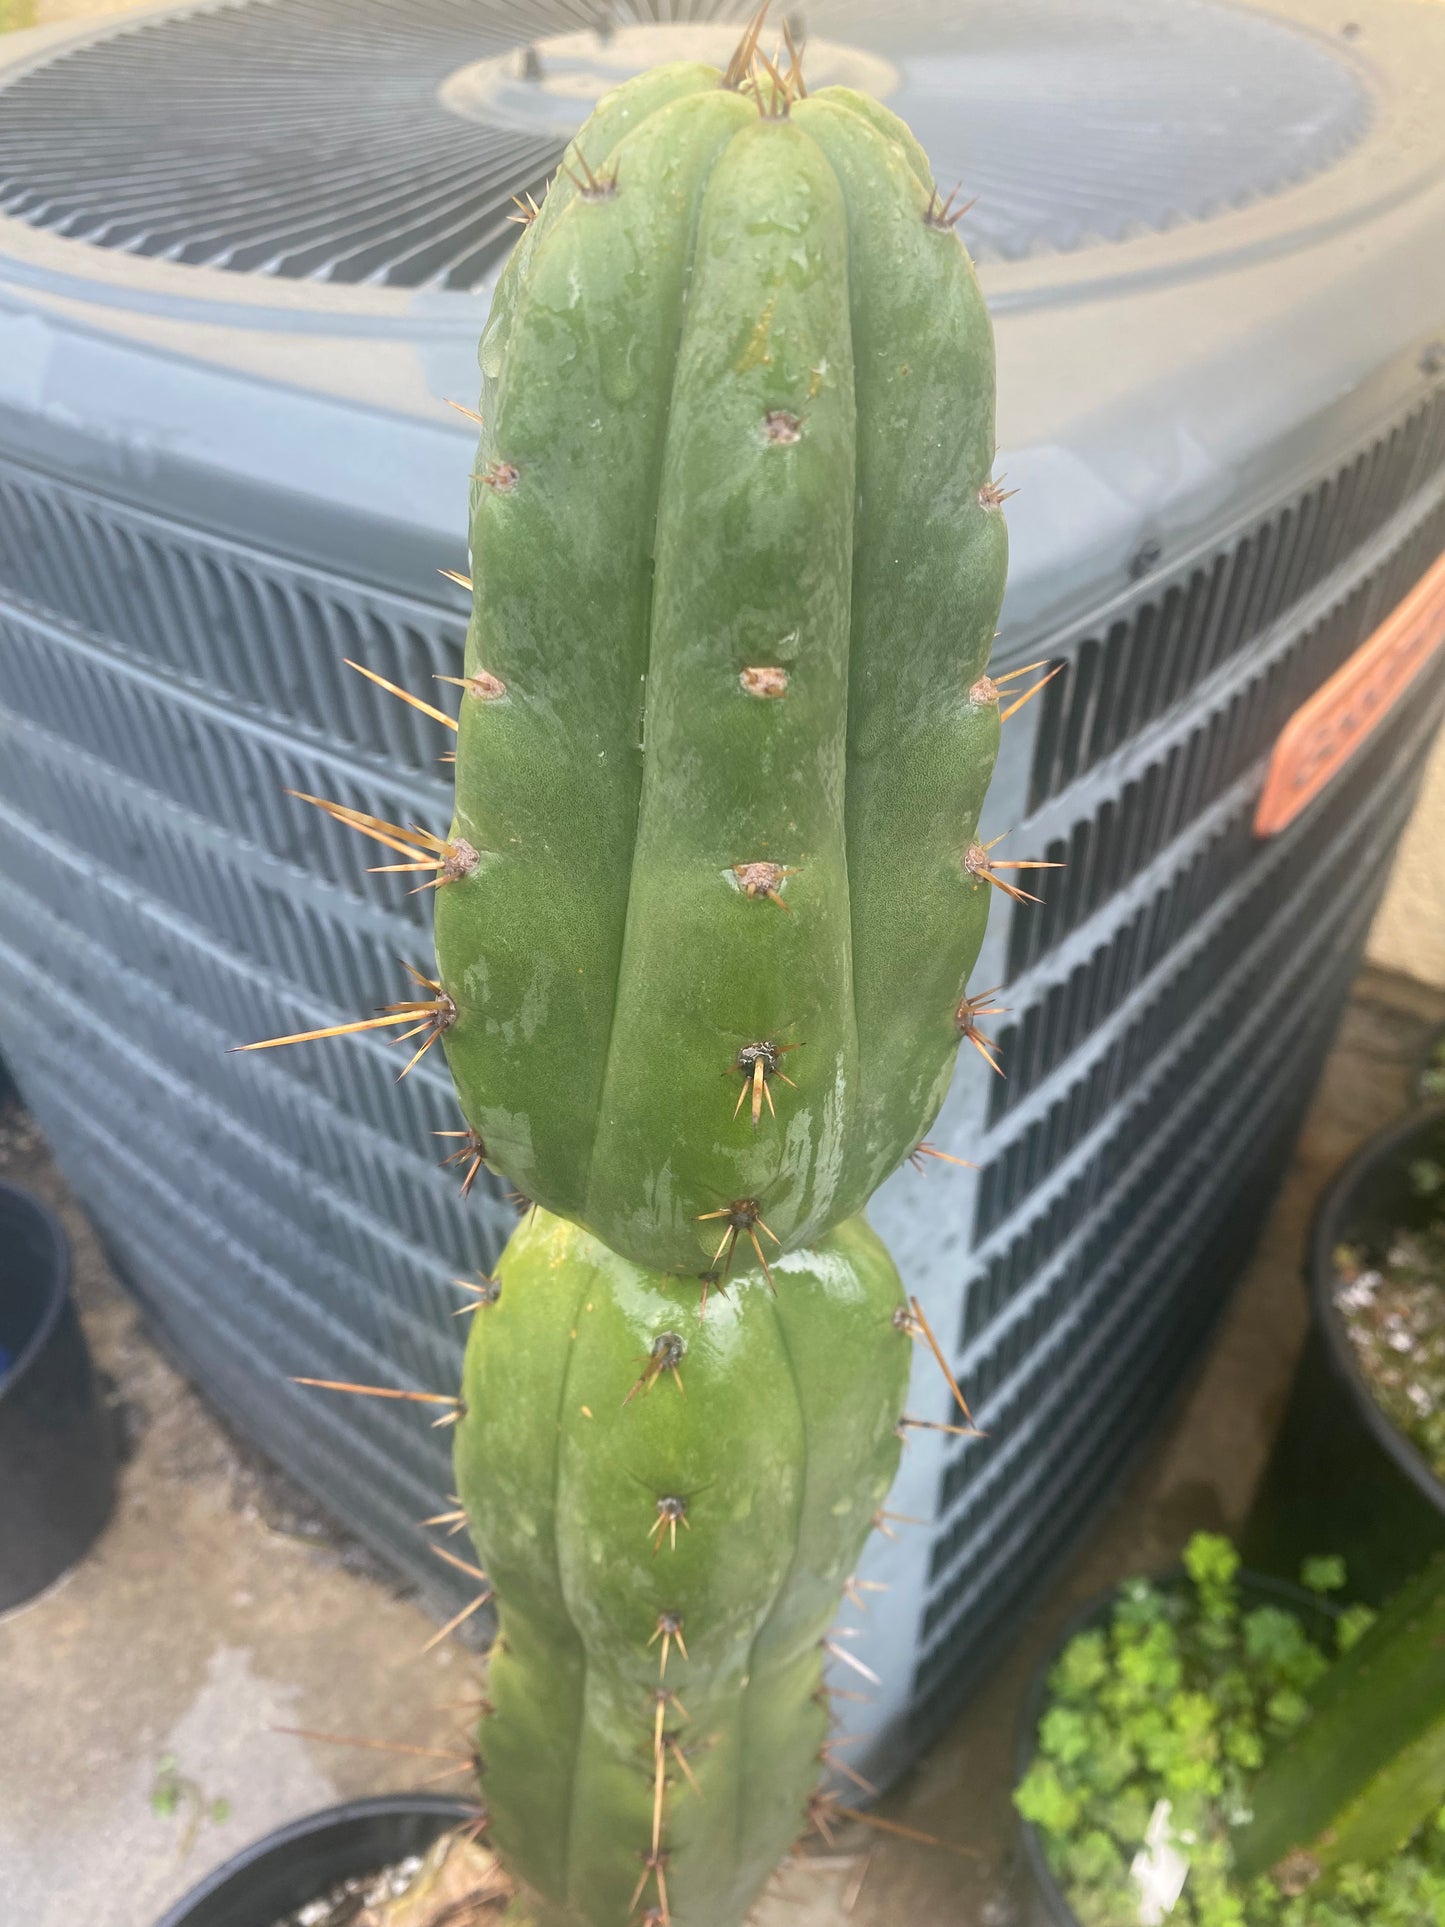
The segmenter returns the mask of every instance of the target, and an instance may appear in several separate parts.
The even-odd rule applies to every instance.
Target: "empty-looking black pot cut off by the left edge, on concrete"
[[[69,1243],[0,1183],[0,1613],[81,1559],[110,1517],[116,1447],[69,1299]]]

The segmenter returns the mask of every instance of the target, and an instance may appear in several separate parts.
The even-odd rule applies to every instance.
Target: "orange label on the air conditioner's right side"
[[[1354,655],[1300,703],[1270,757],[1254,834],[1275,836],[1339,775],[1445,642],[1445,555]]]

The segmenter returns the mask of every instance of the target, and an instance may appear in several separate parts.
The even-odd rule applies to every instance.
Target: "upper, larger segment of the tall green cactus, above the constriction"
[[[663,67],[609,96],[482,343],[437,890],[487,1162],[657,1270],[857,1212],[959,1041],[998,740],[992,339],[907,131]],[[742,1058],[763,1075],[753,1123]],[[776,1243],[773,1243],[776,1241]]]

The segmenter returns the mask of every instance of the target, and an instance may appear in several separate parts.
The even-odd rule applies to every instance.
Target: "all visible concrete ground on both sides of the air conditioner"
[[[1443,994],[1362,977],[1285,1191],[1191,1393],[988,1688],[879,1809],[946,1844],[854,1823],[780,1875],[757,1927],[1031,1921],[1010,1782],[1037,1655],[1085,1597],[1169,1563],[1195,1528],[1243,1518],[1304,1330],[1299,1266],[1314,1199],[1405,1108],[1408,1064],[1443,1017]],[[81,1314],[129,1438],[121,1499],[92,1555],[0,1621],[0,1923],[152,1927],[200,1873],[279,1821],[445,1769],[430,1754],[277,1729],[445,1754],[480,1667],[455,1640],[422,1653],[434,1632],[426,1601],[171,1370],[13,1108],[0,1112],[0,1175],[39,1191],[71,1231]]]

